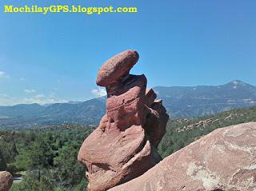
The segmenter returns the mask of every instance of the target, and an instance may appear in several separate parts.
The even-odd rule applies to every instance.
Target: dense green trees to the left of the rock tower
[[[23,177],[11,190],[85,190],[85,168],[77,161],[82,141],[93,129],[53,126],[0,131],[0,171]]]

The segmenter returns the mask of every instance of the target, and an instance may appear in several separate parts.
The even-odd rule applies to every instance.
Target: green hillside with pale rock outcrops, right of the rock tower
[[[213,116],[170,120],[166,125],[166,134],[158,145],[158,152],[162,157],[167,157],[214,129],[250,121],[256,121],[256,106],[233,109]]]

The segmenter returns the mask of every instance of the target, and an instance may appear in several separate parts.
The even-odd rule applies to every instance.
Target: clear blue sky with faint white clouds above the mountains
[[[5,14],[3,6],[137,6],[137,14]],[[40,2],[40,3],[39,3]],[[85,101],[104,94],[98,68],[122,50],[148,86],[256,85],[256,2],[0,2],[0,105]]]

